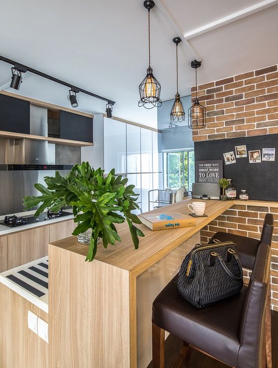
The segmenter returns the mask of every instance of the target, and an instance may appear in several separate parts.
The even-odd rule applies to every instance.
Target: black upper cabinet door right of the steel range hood
[[[60,110],[60,138],[93,143],[93,118]]]

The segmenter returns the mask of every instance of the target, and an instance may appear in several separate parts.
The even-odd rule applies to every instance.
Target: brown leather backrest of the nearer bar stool
[[[270,287],[271,247],[260,244],[248,290],[246,292],[240,328],[239,367],[265,367],[265,309]]]

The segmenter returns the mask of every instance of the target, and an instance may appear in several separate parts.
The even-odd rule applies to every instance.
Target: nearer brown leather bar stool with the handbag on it
[[[189,361],[198,349],[235,368],[265,368],[265,310],[270,287],[271,248],[260,244],[249,285],[240,293],[198,309],[179,294],[174,279],[153,302],[153,368],[164,367],[165,331],[181,338]],[[178,367],[183,359],[177,358]]]

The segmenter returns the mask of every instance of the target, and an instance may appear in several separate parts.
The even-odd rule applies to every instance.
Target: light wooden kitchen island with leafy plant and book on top
[[[188,214],[192,199],[163,213]],[[121,243],[93,262],[88,246],[69,237],[49,245],[49,367],[146,368],[151,361],[151,306],[174,277],[185,255],[200,242],[200,230],[238,201],[206,201],[208,217],[180,229],[140,229],[134,250],[126,223],[117,226]],[[162,209],[154,210],[161,212]]]

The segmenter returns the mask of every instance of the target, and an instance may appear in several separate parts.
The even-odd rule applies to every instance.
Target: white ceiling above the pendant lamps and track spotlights
[[[151,11],[151,65],[162,85],[162,100],[175,94],[172,38],[206,26],[259,0],[157,0]],[[267,6],[278,1],[265,0]],[[0,54],[116,101],[114,115],[156,126],[156,109],[138,108],[138,85],[147,68],[147,11],[143,0],[4,0]],[[236,19],[236,18],[235,18]],[[278,63],[278,5],[219,28],[208,28],[179,47],[179,92],[190,93],[190,61],[203,60],[198,82],[205,83]],[[197,54],[197,55],[196,55]],[[0,62],[0,86],[10,66]],[[15,92],[8,86],[4,89]],[[20,94],[69,107],[68,88],[26,74]],[[105,102],[78,95],[79,110],[104,112]]]

